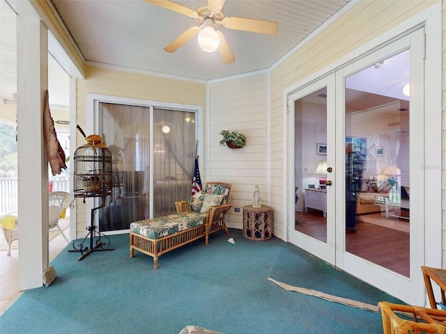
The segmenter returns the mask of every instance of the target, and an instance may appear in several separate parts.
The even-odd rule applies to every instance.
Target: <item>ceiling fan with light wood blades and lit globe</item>
[[[249,31],[251,33],[265,33],[274,35],[279,24],[277,22],[265,21],[262,19],[247,19],[245,17],[224,17],[222,7],[225,0],[208,0],[206,6],[200,6],[197,10],[187,8],[170,0],[144,0],[154,5],[173,10],[174,12],[194,18],[200,26],[192,26],[181,33],[164,50],[175,52],[182,47],[185,42],[198,35],[198,43],[206,52],[213,52],[218,49],[225,64],[230,64],[236,60],[229,47],[223,33],[216,30],[223,25],[226,29]]]

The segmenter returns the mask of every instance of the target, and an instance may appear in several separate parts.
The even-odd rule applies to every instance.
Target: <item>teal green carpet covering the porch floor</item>
[[[77,261],[68,246],[51,263],[58,277],[31,289],[0,317],[0,333],[175,334],[187,325],[227,334],[382,333],[379,313],[289,292],[268,280],[376,305],[397,299],[277,238],[249,241],[222,231],[153,259],[128,234],[112,251]]]

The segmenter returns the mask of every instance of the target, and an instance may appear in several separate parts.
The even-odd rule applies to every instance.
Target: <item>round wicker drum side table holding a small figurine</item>
[[[272,237],[272,208],[262,205],[259,208],[252,205],[243,207],[243,237],[262,241]]]

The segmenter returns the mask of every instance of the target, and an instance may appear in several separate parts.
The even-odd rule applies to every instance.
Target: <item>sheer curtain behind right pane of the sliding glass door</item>
[[[175,213],[192,191],[195,113],[153,110],[153,216]]]

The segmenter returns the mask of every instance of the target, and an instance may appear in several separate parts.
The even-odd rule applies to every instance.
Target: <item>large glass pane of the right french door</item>
[[[409,58],[403,51],[345,81],[346,251],[407,277]]]

